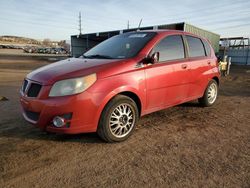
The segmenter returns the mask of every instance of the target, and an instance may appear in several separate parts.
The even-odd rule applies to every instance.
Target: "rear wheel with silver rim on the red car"
[[[198,99],[199,103],[204,106],[212,106],[218,97],[218,83],[215,80],[210,80],[204,92],[204,95]]]

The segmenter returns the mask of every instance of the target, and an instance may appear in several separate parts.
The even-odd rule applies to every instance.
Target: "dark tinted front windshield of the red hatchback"
[[[127,59],[136,56],[156,35],[155,32],[131,32],[103,41],[83,54],[84,58]]]

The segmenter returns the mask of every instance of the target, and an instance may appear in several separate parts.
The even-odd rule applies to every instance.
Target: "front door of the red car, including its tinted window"
[[[150,112],[181,103],[189,89],[189,67],[182,35],[165,37],[151,54],[154,52],[159,52],[159,62],[145,69],[147,109]]]

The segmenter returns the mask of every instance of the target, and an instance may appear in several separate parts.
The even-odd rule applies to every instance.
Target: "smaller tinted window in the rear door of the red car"
[[[205,49],[201,42],[201,39],[191,36],[186,36],[186,38],[189,47],[189,57],[205,56]]]

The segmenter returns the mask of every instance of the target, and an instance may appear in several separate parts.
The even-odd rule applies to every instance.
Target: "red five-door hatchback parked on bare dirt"
[[[138,31],[29,73],[20,101],[24,118],[42,130],[97,132],[116,142],[151,112],[194,99],[213,105],[219,77],[206,39],[175,30]]]

